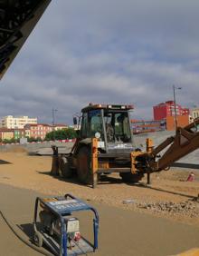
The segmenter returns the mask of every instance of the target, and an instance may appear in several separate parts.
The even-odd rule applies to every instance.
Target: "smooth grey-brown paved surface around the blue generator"
[[[26,239],[33,233],[33,207],[38,195],[33,191],[0,184],[0,210],[21,228],[19,231]],[[93,202],[90,204],[93,205]],[[199,247],[198,227],[102,204],[94,206],[100,213],[100,249],[96,256],[164,256]],[[89,217],[85,213],[81,217],[81,231],[88,232],[88,238],[91,237],[88,229],[92,223]],[[40,255],[19,241],[2,218],[0,231],[0,255]]]

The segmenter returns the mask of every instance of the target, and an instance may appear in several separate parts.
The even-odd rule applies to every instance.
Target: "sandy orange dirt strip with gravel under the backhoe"
[[[117,206],[128,211],[146,212],[176,222],[199,226],[199,172],[195,170],[170,170],[151,175],[152,184],[146,186],[146,178],[137,184],[121,182],[118,174],[104,177],[93,190],[77,182],[50,175],[52,158],[29,156],[24,152],[0,154],[0,182],[18,188],[45,194],[62,195],[66,192],[90,202]],[[195,181],[185,182],[189,172]]]

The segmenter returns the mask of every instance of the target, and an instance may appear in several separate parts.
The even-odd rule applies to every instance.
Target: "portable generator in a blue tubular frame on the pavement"
[[[91,211],[93,242],[85,239],[80,231],[80,220],[75,212]],[[80,214],[79,214],[80,215]],[[52,251],[53,255],[87,255],[98,249],[99,214],[95,208],[71,194],[37,197],[34,206],[33,241]]]

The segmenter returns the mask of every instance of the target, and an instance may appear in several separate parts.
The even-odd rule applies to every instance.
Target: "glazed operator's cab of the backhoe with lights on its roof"
[[[81,110],[81,139],[98,138],[101,152],[132,151],[132,105],[92,104]]]

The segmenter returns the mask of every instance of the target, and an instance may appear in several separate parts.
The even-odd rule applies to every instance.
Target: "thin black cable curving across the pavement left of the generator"
[[[43,251],[42,249],[40,249],[39,247],[37,247],[36,245],[34,245],[33,243],[31,243],[30,241],[25,240],[20,234],[19,232],[15,229],[14,224],[12,224],[11,222],[9,222],[7,220],[7,218],[5,217],[5,214],[0,211],[0,215],[2,216],[3,220],[5,221],[5,223],[7,224],[7,226],[10,228],[11,231],[14,232],[14,235],[20,240],[23,241],[27,246],[29,246],[30,248],[32,248],[34,251],[37,251],[45,256],[53,256],[52,253],[47,252],[47,251]]]

